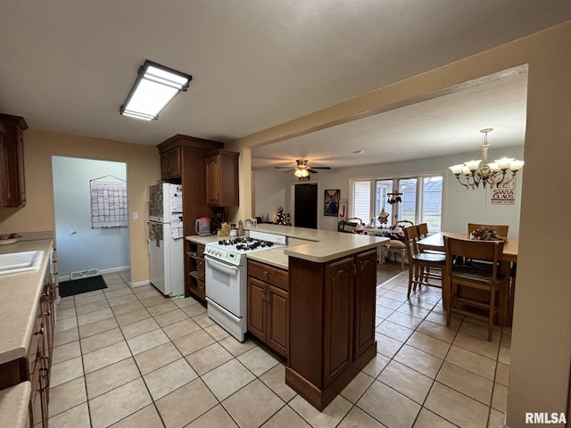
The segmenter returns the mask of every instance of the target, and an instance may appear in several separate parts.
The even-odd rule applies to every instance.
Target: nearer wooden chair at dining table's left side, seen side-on
[[[420,252],[418,251],[418,229],[416,226],[409,226],[404,229],[405,251],[409,259],[409,291],[407,298],[410,298],[410,292],[416,292],[417,286],[430,285],[443,288],[445,279],[441,276],[441,284],[431,283],[426,276],[426,272],[431,268],[439,268],[443,272],[445,266],[446,255],[443,253]],[[446,308],[446,305],[444,305]]]

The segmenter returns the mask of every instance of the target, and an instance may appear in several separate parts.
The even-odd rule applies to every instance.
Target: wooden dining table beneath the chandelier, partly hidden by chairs
[[[444,236],[455,239],[469,240],[468,234],[460,234],[456,232],[440,232],[438,234],[426,236],[418,241],[419,251],[444,251]],[[511,267],[517,263],[517,238],[509,237],[505,240],[503,251],[501,252],[500,269],[503,275],[510,277]],[[515,269],[514,269],[515,271]],[[450,284],[443,284],[443,295],[450,290]],[[510,277],[508,287],[501,287],[499,290],[498,301],[498,321],[497,324],[502,327],[510,327],[513,317],[513,302],[515,298],[515,276]],[[448,310],[448,308],[444,308]]]

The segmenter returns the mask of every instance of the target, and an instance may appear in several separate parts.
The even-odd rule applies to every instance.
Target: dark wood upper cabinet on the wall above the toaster
[[[240,204],[238,191],[238,152],[215,150],[208,153],[206,165],[206,203],[214,207]]]

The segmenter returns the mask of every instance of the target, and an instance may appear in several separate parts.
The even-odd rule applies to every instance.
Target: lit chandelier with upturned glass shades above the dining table
[[[476,189],[482,183],[484,188],[486,185],[497,187],[505,185],[516,177],[516,173],[524,166],[524,161],[517,161],[515,158],[501,158],[488,163],[488,133],[492,132],[492,128],[480,130],[484,136],[482,144],[482,159],[480,161],[468,161],[453,165],[450,167],[452,174],[456,176],[460,185],[467,189],[472,187]],[[480,164],[480,162],[482,162]],[[461,176],[461,177],[460,177]],[[462,179],[464,181],[462,181]]]

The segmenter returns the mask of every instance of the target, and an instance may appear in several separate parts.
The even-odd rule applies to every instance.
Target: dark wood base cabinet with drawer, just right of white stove
[[[287,271],[248,260],[248,331],[287,358]]]

